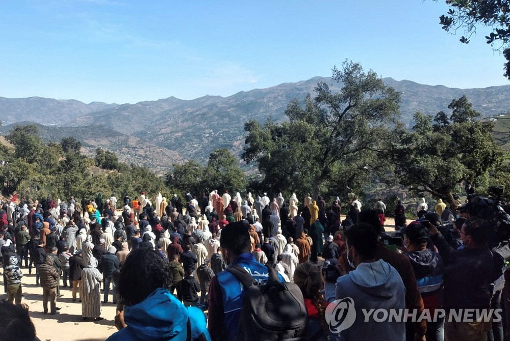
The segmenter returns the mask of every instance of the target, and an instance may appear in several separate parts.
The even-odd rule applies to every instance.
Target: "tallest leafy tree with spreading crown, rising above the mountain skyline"
[[[333,80],[343,85],[340,93],[318,83],[315,98],[289,103],[289,122],[245,124],[242,157],[258,163],[270,192],[342,195],[386,168],[379,156],[399,125],[399,93],[358,63],[334,68]]]

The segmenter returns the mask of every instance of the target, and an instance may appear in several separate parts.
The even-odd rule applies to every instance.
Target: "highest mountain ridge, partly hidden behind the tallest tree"
[[[510,86],[487,89],[450,89],[427,86],[408,80],[385,82],[402,93],[402,121],[409,124],[417,110],[436,113],[447,110],[454,98],[466,94],[483,116],[507,110]],[[125,134],[132,134],[184,158],[205,161],[215,148],[228,148],[239,153],[244,146],[244,123],[249,119],[265,122],[286,120],[287,104],[312,93],[319,81],[339,91],[341,85],[331,78],[314,77],[297,83],[283,83],[267,89],[239,92],[228,97],[205,96],[184,101],[168,98],[155,102],[123,104],[115,108],[91,112],[67,123],[84,125],[101,122]],[[166,109],[161,110],[162,107]]]

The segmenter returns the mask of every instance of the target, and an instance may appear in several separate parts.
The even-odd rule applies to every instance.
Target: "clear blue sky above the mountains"
[[[135,103],[229,96],[344,60],[456,88],[508,84],[480,28],[438,24],[443,0],[0,2],[0,96]]]

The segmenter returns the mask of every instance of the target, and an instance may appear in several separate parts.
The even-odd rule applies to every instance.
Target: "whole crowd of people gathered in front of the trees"
[[[494,285],[502,268],[495,266],[483,217],[442,202],[428,211],[420,200],[419,219],[407,224],[405,214],[397,217],[405,212],[399,203],[398,232],[389,236],[381,198],[371,209],[362,207],[352,197],[341,219],[340,198],[326,204],[320,195],[306,195],[302,203],[295,194],[288,200],[282,193],[243,198],[216,190],[198,198],[186,193],[184,201],[174,195],[169,202],[161,193],[150,200],[144,192],[80,202],[12,195],[0,209],[4,290],[8,302],[22,304],[23,273],[34,271],[45,314],[58,314],[61,290],[81,302],[83,320],[103,319],[101,304],[111,302],[119,331],[110,340],[261,339],[262,331],[247,338],[242,330],[248,319],[243,299],[251,286],[274,287],[275,281],[303,307],[305,324],[265,330],[279,337],[274,339],[285,339],[292,328],[296,340],[503,339],[505,319],[358,318],[335,333],[326,308],[344,298],[355,302],[359,317],[363,309],[409,309],[420,316],[424,310],[502,306],[504,290]],[[453,223],[448,236],[441,229],[446,223]],[[301,321],[298,312],[288,319]]]

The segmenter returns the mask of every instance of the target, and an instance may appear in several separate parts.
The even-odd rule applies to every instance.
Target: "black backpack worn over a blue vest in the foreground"
[[[294,283],[280,282],[271,266],[269,281],[258,285],[246,270],[236,265],[225,269],[246,288],[239,318],[237,341],[304,341],[308,324],[303,294]]]

